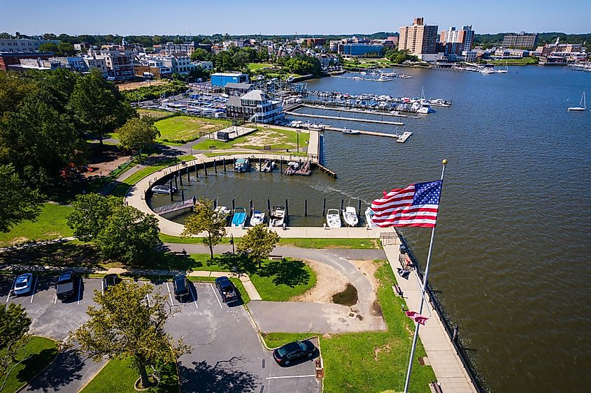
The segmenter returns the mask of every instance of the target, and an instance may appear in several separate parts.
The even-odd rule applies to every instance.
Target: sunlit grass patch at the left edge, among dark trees
[[[45,203],[37,221],[22,221],[10,232],[0,232],[0,246],[71,236],[72,230],[66,223],[66,216],[71,211],[71,206]]]

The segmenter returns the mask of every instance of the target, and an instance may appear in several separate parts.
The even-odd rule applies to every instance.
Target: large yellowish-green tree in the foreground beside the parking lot
[[[146,302],[150,295],[150,302]],[[101,293],[94,291],[97,307],[89,306],[90,320],[69,334],[69,346],[99,362],[103,357],[127,359],[138,371],[141,387],[149,387],[148,366],[157,362],[176,362],[190,347],[174,341],[166,333],[166,321],[177,313],[152,286],[119,283]]]

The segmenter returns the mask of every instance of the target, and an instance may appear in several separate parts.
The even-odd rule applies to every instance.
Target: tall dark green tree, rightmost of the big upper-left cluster
[[[117,87],[104,80],[97,68],[76,81],[69,108],[81,126],[97,134],[101,145],[106,133],[125,124],[134,114]]]

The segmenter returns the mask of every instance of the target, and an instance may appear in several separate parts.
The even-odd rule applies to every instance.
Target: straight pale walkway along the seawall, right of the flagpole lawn
[[[397,245],[384,246],[392,271],[396,272],[400,267],[399,247]],[[408,280],[403,279],[399,274],[394,274],[398,285],[404,294],[408,309],[418,311],[420,306],[420,286],[418,285],[417,274],[411,272]],[[425,294],[427,301],[429,295]],[[446,393],[477,393],[468,371],[464,368],[462,360],[457,355],[453,343],[450,341],[443,321],[429,302],[425,303],[423,315],[429,316],[425,326],[420,327],[419,336],[422,345],[427,351],[429,363],[433,367],[437,381],[441,383],[443,392]]]

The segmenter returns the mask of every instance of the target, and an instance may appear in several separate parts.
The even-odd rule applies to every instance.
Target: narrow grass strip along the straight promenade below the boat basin
[[[160,234],[160,240],[164,243],[178,244],[203,244],[201,237],[178,237]],[[234,240],[238,241],[238,237]],[[221,244],[229,244],[229,238],[222,239]],[[279,240],[280,246],[294,246],[301,249],[380,249],[378,239],[311,239],[303,237],[283,237]]]

